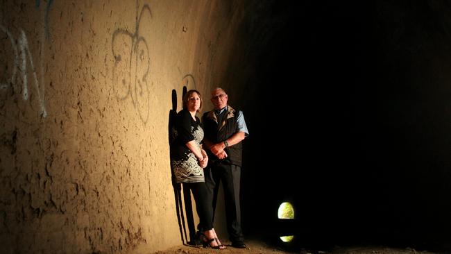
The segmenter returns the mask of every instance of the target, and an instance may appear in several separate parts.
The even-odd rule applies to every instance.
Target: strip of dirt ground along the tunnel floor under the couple
[[[230,244],[228,242],[223,242],[223,244]],[[201,254],[201,253],[222,253],[222,254],[228,254],[228,253],[246,253],[246,254],[291,254],[291,253],[298,253],[298,254],[327,254],[327,253],[337,253],[337,254],[439,254],[439,253],[433,253],[429,251],[416,251],[413,248],[388,248],[384,246],[371,246],[371,247],[335,247],[332,248],[332,250],[308,250],[305,248],[300,248],[296,251],[287,251],[284,250],[284,248],[280,246],[271,246],[269,244],[266,244],[264,242],[258,241],[258,240],[247,240],[246,241],[247,248],[239,249],[239,248],[233,248],[232,246],[228,246],[225,250],[215,250],[212,248],[196,248],[193,246],[176,246],[173,248],[169,248],[166,251],[158,251],[155,254]]]

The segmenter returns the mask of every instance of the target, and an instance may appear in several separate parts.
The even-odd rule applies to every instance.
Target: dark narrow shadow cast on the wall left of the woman
[[[182,98],[187,93],[187,87],[183,87]],[[172,153],[173,142],[176,139],[175,123],[177,116],[177,92],[172,90],[172,109],[169,110],[169,152]],[[169,159],[170,160],[170,159]],[[170,163],[171,164],[171,163]],[[173,168],[171,164],[171,180],[172,187],[174,190],[174,198],[176,199],[176,212],[178,220],[178,228],[180,230],[180,239],[184,245],[194,245],[194,239],[196,239],[196,228],[194,226],[194,215],[193,207],[191,201],[191,190],[189,188],[183,189],[183,200],[185,201],[185,212],[189,231],[189,240],[187,239],[187,229],[185,227],[185,216],[183,212],[183,202],[182,202],[182,185],[176,183],[176,178],[173,175]]]

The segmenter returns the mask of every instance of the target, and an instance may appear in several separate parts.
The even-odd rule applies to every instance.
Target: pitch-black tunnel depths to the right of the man
[[[450,250],[450,4],[265,3],[241,102],[245,233]]]

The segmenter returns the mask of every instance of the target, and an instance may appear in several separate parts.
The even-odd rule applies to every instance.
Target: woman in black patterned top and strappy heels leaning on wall
[[[212,202],[207,199],[203,168],[207,167],[207,153],[202,149],[203,129],[196,112],[202,108],[201,93],[189,90],[183,96],[183,109],[176,117],[176,139],[171,149],[171,164],[176,183],[192,190],[199,224],[203,228],[203,245],[224,249],[213,228]]]

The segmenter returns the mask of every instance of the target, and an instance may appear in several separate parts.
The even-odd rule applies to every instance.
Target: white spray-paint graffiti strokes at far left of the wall
[[[0,80],[0,89],[6,90],[8,87],[13,86],[17,88],[17,69],[19,69],[22,74],[22,83],[24,85],[23,88],[23,97],[24,100],[28,100],[28,69],[27,69],[27,60],[30,62],[31,73],[33,75],[33,81],[36,88],[37,101],[40,104],[40,115],[42,117],[47,116],[47,112],[44,105],[44,93],[41,93],[39,81],[37,80],[35,65],[33,63],[33,56],[31,55],[30,49],[28,47],[28,39],[26,38],[25,32],[20,29],[20,35],[17,37],[17,44],[15,43],[15,38],[12,33],[8,31],[4,26],[0,25],[0,31],[6,33],[11,42],[12,52],[14,53],[14,65],[12,67],[12,74],[10,79],[7,78],[6,81]],[[18,48],[17,48],[18,47]],[[19,53],[20,52],[20,53]],[[28,58],[27,58],[28,56]]]

